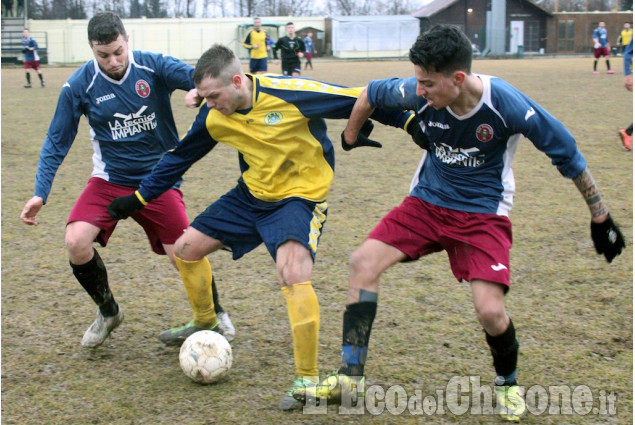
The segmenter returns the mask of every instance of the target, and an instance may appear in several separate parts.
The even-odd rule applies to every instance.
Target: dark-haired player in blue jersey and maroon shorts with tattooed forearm
[[[299,400],[341,401],[363,385],[377,311],[379,278],[396,263],[445,250],[459,281],[470,283],[476,316],[485,330],[496,372],[501,415],[525,410],[516,381],[518,341],[504,296],[509,289],[514,194],[511,162],[522,136],[573,180],[591,212],[591,236],[611,262],[624,239],[609,215],[571,133],[505,81],[471,72],[468,38],[449,25],[433,27],[410,49],[415,76],[371,81],[343,132],[355,140],[374,108],[417,111],[428,143],[410,195],[389,212],[351,255],[343,323],[342,367],[319,386],[298,390]]]

